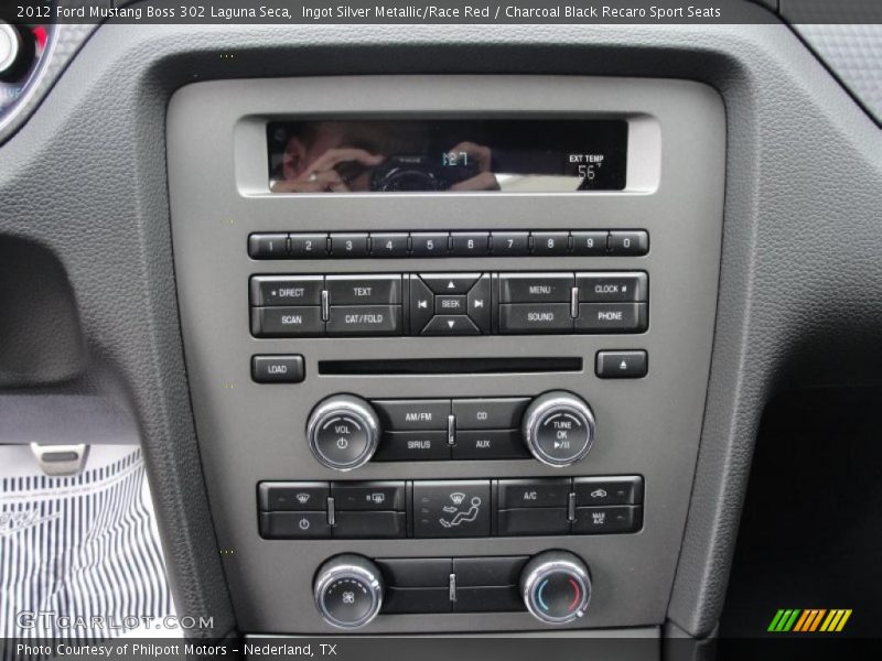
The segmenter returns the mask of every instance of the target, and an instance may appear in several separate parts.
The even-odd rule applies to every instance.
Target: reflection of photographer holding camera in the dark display
[[[421,130],[388,121],[312,121],[276,129],[283,145],[273,193],[498,191],[490,148],[433,149]]]

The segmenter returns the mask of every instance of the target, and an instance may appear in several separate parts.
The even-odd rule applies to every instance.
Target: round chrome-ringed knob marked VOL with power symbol
[[[362,398],[335,394],[310,413],[306,438],[319,462],[336,470],[352,470],[369,462],[376,452],[379,420]]]

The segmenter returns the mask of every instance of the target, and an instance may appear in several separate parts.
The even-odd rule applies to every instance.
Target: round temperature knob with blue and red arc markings
[[[567,551],[536,555],[520,574],[524,604],[539,621],[566,625],[585,614],[591,576],[582,560]]]

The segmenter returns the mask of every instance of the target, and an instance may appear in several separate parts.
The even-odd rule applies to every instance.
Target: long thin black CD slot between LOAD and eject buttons
[[[362,375],[514,375],[580,372],[582,359],[553,358],[399,358],[378,360],[320,360],[322,376]]]

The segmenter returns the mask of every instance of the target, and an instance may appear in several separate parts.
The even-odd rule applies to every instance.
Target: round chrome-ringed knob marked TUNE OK
[[[594,443],[594,413],[572,392],[546,392],[524,412],[524,438],[533,456],[544,464],[569,466],[584,457]]]

